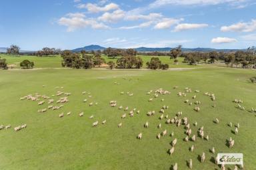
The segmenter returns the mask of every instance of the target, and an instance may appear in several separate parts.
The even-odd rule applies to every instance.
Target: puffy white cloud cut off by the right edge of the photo
[[[248,23],[240,22],[229,26],[223,26],[221,27],[221,31],[253,32],[256,31],[256,20],[252,19],[251,22]]]

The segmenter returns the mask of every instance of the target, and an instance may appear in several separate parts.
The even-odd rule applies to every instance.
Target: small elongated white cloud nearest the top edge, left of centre
[[[119,9],[119,5],[115,3],[109,3],[104,7],[101,7],[97,4],[87,3],[87,4],[79,4],[77,5],[79,9],[87,9],[90,13],[99,13],[99,12],[107,12],[115,9]]]

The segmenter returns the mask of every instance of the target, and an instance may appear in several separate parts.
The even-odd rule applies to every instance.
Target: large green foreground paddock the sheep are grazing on
[[[29,56],[26,56],[29,57]],[[31,57],[33,58],[33,57]],[[31,59],[32,60],[32,59]],[[58,67],[60,58],[36,58],[38,67]],[[40,60],[40,62],[39,62]],[[42,62],[41,62],[42,61]],[[49,62],[51,61],[51,62]],[[19,62],[19,58],[7,58],[7,62]],[[37,65],[38,64],[38,65]],[[181,65],[179,65],[181,66]],[[211,160],[216,154],[209,152],[215,147],[216,153],[243,153],[245,169],[255,169],[256,160],[256,127],[255,114],[248,112],[255,104],[255,84],[248,82],[255,76],[254,70],[231,68],[197,68],[193,70],[0,70],[0,124],[11,124],[11,129],[0,131],[0,169],[170,169],[178,163],[179,169],[188,169],[186,161],[193,159],[193,169],[219,169]],[[117,84],[115,84],[117,82]],[[43,85],[46,87],[43,88]],[[62,88],[56,88],[57,86]],[[179,86],[173,89],[173,86]],[[189,87],[193,92],[186,97],[178,97]],[[149,90],[163,88],[171,94],[153,98],[147,95]],[[71,92],[69,102],[60,110],[47,110],[41,114],[37,110],[47,108],[46,104],[38,106],[31,100],[19,100],[28,94],[45,94],[51,96],[57,91]],[[195,112],[193,106],[185,104],[194,90],[200,90],[195,100],[200,100],[201,111]],[[82,95],[83,91],[91,92]],[[120,92],[131,92],[133,96],[121,95]],[[204,92],[215,94],[216,108],[213,101]],[[55,101],[59,98],[52,97]],[[85,103],[83,99],[88,101]],[[161,99],[165,99],[161,102]],[[243,100],[245,111],[236,108],[232,101]],[[110,100],[117,101],[117,107],[109,106]],[[97,106],[89,107],[89,102],[98,102]],[[56,105],[53,104],[54,106]],[[196,133],[201,126],[209,141],[197,137],[195,142],[182,141],[186,136],[183,128],[165,124],[165,119],[159,120],[158,111],[163,105],[169,106],[165,114],[173,118],[182,111],[189,123],[197,121],[198,126],[191,126]],[[133,118],[121,120],[125,112],[118,110],[119,106],[129,106],[140,110]],[[155,110],[155,116],[146,116],[147,112]],[[59,118],[61,112],[72,112],[71,116]],[[78,114],[84,112],[83,117]],[[127,112],[128,114],[129,112]],[[94,115],[95,118],[89,119]],[[213,120],[219,119],[219,124]],[[95,121],[103,126],[96,128],[91,125]],[[123,126],[117,128],[122,122]],[[149,128],[143,128],[149,122]],[[239,133],[227,126],[239,123]],[[161,123],[162,128],[157,129]],[[27,124],[26,129],[15,132],[13,128]],[[174,137],[169,135],[156,139],[157,133],[167,129],[167,134],[174,131]],[[136,139],[143,133],[141,140]],[[171,149],[170,142],[177,138],[173,155],[167,153]],[[227,147],[226,139],[235,139],[232,149]],[[189,147],[195,145],[191,153]],[[200,163],[198,155],[206,154],[206,161]],[[226,166],[233,169],[233,166]]]

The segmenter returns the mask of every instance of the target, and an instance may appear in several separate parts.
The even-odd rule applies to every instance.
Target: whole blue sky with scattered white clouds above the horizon
[[[0,46],[247,48],[253,0],[1,0]]]

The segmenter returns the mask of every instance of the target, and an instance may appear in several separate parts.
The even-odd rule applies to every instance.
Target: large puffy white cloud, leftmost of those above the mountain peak
[[[75,31],[76,29],[91,27],[93,29],[108,29],[109,27],[103,23],[88,19],[83,13],[68,13],[66,17],[61,17],[58,21],[59,25],[67,27],[67,31]]]

